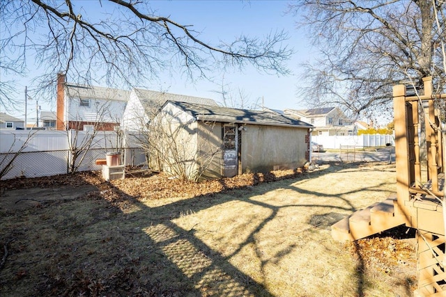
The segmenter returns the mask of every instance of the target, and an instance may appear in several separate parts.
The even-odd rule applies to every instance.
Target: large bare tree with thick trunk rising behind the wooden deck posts
[[[290,10],[321,54],[305,65],[302,98],[309,104],[336,104],[376,119],[392,113],[396,83],[422,86],[423,77],[435,74],[443,88],[445,31],[435,20],[445,21],[444,1],[303,0]]]

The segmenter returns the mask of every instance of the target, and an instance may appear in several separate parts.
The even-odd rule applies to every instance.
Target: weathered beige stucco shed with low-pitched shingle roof
[[[309,160],[312,128],[269,111],[168,101],[149,125],[151,167],[187,179],[295,169]]]

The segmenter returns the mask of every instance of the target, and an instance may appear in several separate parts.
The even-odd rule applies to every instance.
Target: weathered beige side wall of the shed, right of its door
[[[307,159],[305,136],[308,129],[246,125],[242,132],[241,163],[243,172],[295,169]]]

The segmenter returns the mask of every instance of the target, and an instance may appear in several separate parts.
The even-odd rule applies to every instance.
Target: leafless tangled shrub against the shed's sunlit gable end
[[[222,154],[222,142],[212,133],[217,124],[199,125],[175,108],[161,107],[153,104],[148,111],[151,120],[133,136],[146,152],[151,170],[197,182]]]

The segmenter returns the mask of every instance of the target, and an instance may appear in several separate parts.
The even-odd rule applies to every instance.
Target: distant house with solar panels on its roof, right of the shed
[[[352,125],[346,115],[338,107],[325,107],[321,109],[285,109],[285,115],[309,122],[314,126],[313,136],[347,136],[355,134],[355,126]]]

